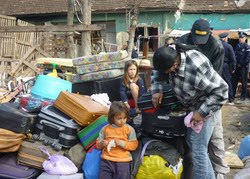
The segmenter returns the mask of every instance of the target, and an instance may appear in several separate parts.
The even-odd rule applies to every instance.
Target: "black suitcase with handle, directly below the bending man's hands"
[[[142,111],[142,132],[161,139],[184,136],[186,115],[187,112],[184,111],[167,113],[162,108],[154,113]]]

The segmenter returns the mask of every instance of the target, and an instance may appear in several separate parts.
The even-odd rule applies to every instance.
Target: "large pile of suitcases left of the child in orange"
[[[65,155],[78,144],[87,151],[108,124],[107,114],[108,107],[89,96],[66,91],[37,114],[27,113],[15,103],[0,104],[0,178],[37,178],[43,172],[42,163],[48,160],[41,147],[50,155]],[[40,178],[44,176],[58,177],[43,173]],[[83,178],[83,174],[72,177]]]

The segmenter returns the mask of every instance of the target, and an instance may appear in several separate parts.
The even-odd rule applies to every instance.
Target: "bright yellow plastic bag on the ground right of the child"
[[[180,179],[183,171],[182,160],[176,166],[168,166],[168,162],[158,155],[144,156],[136,179]]]

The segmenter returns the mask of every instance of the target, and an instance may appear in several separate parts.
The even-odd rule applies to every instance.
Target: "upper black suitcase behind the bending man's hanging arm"
[[[137,101],[138,108],[141,110],[153,108],[152,94],[147,92],[143,94]],[[181,105],[180,101],[175,96],[175,93],[170,84],[163,86],[163,99],[160,104],[161,108],[167,111],[177,109]]]

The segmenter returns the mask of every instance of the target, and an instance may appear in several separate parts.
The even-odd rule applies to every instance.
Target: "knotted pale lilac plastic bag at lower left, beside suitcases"
[[[46,173],[52,175],[70,175],[77,173],[75,164],[63,155],[50,155],[46,148],[40,148],[42,152],[48,155],[48,160],[43,162],[43,169]]]

